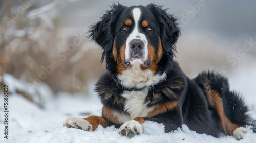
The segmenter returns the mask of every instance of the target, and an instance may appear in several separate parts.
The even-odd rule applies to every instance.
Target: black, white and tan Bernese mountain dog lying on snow
[[[183,73],[174,60],[177,18],[162,6],[113,4],[89,33],[106,62],[95,89],[102,116],[67,118],[64,126],[94,131],[114,125],[131,138],[143,133],[145,121],[154,121],[165,125],[165,132],[186,124],[197,133],[241,139],[244,126],[254,124],[225,77],[209,71],[189,79]]]

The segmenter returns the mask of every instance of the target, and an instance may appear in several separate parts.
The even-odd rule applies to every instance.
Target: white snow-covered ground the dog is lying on
[[[255,77],[254,73],[252,79],[255,79]],[[235,78],[231,80],[235,87],[238,84],[238,80]],[[14,83],[11,83],[12,81],[9,82],[9,87],[14,86]],[[16,88],[18,87],[22,86],[17,86]],[[62,122],[67,117],[86,117],[92,114],[101,114],[102,105],[97,99],[96,94],[93,90],[89,91],[89,96],[87,97],[59,93],[54,98],[49,96],[51,91],[48,88],[40,88],[42,88],[40,93],[45,94],[45,97],[47,97],[45,109],[39,108],[18,94],[12,94],[9,97],[8,139],[5,139],[3,136],[4,109],[2,103],[4,103],[4,97],[1,93],[0,142],[256,142],[256,134],[252,133],[252,130],[249,128],[244,138],[240,141],[237,141],[232,136],[214,138],[205,134],[197,134],[189,130],[186,125],[171,133],[164,133],[163,125],[152,122],[144,123],[145,134],[135,136],[131,139],[120,136],[118,129],[114,127],[106,129],[99,127],[95,132],[66,128],[62,126]],[[93,89],[93,87],[90,89]],[[251,93],[254,94],[255,91]],[[250,108],[252,108],[251,113],[255,117],[256,97],[253,94],[244,96],[244,98]]]

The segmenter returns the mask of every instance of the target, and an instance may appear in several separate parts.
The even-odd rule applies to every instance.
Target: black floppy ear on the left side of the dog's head
[[[106,11],[106,13],[101,17],[101,20],[95,25],[90,26],[88,31],[89,38],[92,38],[99,44],[104,52],[101,57],[103,62],[105,54],[111,52],[114,44],[115,38],[115,26],[116,23],[126,7],[121,4],[114,4],[111,6],[111,10]]]

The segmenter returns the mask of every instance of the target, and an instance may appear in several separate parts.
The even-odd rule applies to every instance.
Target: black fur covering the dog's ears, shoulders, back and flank
[[[105,60],[106,69],[108,70],[98,80],[96,91],[99,93],[104,106],[124,114],[129,113],[124,110],[126,99],[121,97],[121,94],[127,89],[117,79],[117,63],[114,61],[112,48],[114,40],[116,40],[117,48],[124,44],[127,35],[120,32],[122,27],[120,21],[124,21],[126,17],[129,17],[131,14],[129,11],[134,7],[114,4],[111,10],[106,11],[106,14],[101,17],[99,22],[91,26],[89,31],[89,37],[95,40],[104,50],[101,61]],[[144,119],[163,123],[166,127],[166,132],[176,130],[181,127],[181,124],[186,124],[191,130],[195,130],[198,133],[206,133],[216,137],[224,134],[225,132],[220,124],[220,117],[207,100],[208,91],[205,88],[207,85],[212,91],[217,91],[220,94],[225,115],[232,123],[241,126],[252,125],[250,116],[245,114],[248,111],[247,106],[236,92],[229,90],[226,78],[219,74],[208,72],[200,74],[195,79],[189,79],[180,69],[178,63],[173,60],[176,51],[175,43],[180,35],[177,19],[167,14],[166,10],[163,10],[161,6],[150,4],[146,7],[138,7],[143,11],[143,16],[154,23],[155,31],[152,34],[148,34],[148,41],[154,47],[157,47],[158,42],[156,43],[157,40],[154,39],[160,38],[164,50],[161,60],[157,63],[156,74],[166,73],[167,75],[164,81],[152,85],[154,90],[152,89],[148,92],[145,103],[147,103],[148,107],[170,101],[178,101],[179,103],[178,107],[173,110],[153,117],[144,117]],[[152,98],[153,92],[154,98]],[[111,123],[111,121],[109,122]],[[115,125],[114,123],[111,124]]]

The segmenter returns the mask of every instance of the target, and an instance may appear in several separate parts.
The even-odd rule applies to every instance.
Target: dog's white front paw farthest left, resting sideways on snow
[[[92,130],[92,125],[84,118],[69,117],[63,122],[63,125],[67,128],[77,128],[84,131]]]

